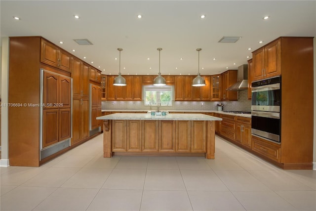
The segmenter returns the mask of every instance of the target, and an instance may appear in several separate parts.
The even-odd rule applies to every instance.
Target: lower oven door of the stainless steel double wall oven
[[[270,141],[280,142],[281,122],[280,113],[252,111],[251,134]]]

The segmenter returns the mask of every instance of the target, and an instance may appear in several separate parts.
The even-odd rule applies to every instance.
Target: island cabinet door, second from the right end
[[[176,121],[176,151],[177,152],[191,152],[191,122],[190,121]]]

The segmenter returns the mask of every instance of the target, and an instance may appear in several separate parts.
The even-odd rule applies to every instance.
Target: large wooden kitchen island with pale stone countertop
[[[205,156],[214,159],[215,123],[204,114],[116,113],[103,120],[103,152],[112,155]]]

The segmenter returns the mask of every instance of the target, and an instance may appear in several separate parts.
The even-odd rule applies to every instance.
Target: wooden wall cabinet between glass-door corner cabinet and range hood
[[[227,90],[236,82],[237,70],[228,70],[221,74],[221,100],[237,100],[237,91]]]

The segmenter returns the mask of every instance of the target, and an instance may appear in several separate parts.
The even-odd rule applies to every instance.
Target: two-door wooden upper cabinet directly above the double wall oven
[[[281,40],[277,39],[252,52],[251,82],[281,75]]]

